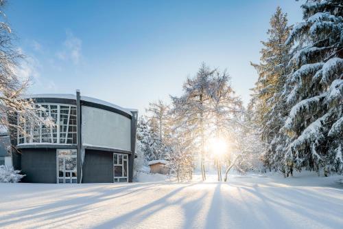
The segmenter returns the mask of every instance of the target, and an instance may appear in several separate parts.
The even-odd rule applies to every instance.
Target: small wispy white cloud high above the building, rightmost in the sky
[[[67,37],[62,45],[62,50],[57,52],[57,57],[62,61],[72,61],[75,65],[80,63],[82,58],[82,41],[67,31]]]

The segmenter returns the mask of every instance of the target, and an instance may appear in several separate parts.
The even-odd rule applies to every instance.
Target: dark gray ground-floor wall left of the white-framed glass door
[[[56,183],[56,149],[22,149],[22,182]]]

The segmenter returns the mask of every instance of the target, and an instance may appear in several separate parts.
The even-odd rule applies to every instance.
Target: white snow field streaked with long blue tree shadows
[[[340,179],[0,184],[0,228],[343,228]]]

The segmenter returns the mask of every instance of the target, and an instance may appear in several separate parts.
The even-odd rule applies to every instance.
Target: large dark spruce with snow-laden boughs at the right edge
[[[285,159],[327,175],[343,168],[343,4],[308,0],[302,8],[304,21],[286,42],[295,49],[284,93],[292,106]]]

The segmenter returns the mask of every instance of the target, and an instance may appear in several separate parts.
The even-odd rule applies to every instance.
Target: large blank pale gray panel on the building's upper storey
[[[82,144],[131,151],[131,120],[118,113],[82,106]]]

